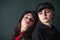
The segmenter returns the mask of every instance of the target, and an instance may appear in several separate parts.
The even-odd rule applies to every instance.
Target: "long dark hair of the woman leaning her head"
[[[14,34],[13,34],[13,40],[15,39],[15,37],[17,37],[17,36],[21,33],[21,31],[20,31],[20,29],[21,29],[21,20],[22,20],[22,18],[24,17],[24,15],[26,15],[26,14],[28,14],[28,13],[31,13],[31,14],[33,15],[34,20],[35,20],[35,23],[34,23],[33,27],[31,27],[30,29],[27,30],[27,32],[32,33],[32,31],[34,30],[34,27],[35,27],[36,22],[37,22],[36,12],[35,12],[35,11],[25,11],[24,14],[22,15],[21,19],[19,20],[16,29],[15,29],[15,32],[14,32]]]

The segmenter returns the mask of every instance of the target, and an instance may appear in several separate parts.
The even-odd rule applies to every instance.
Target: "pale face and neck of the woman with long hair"
[[[31,13],[24,15],[21,21],[21,32],[25,32],[29,27],[34,25],[34,18]]]

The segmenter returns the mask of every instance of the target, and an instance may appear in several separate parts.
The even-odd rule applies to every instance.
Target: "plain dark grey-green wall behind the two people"
[[[59,0],[0,0],[0,40],[12,40],[12,33],[25,10],[34,10],[38,3],[50,2],[55,6],[53,24],[60,31]]]

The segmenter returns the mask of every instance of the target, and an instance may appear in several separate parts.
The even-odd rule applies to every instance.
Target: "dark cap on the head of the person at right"
[[[44,3],[39,3],[39,4],[37,5],[37,7],[36,7],[36,12],[40,12],[40,11],[42,11],[42,10],[45,9],[45,8],[52,9],[52,10],[55,11],[55,8],[54,8],[54,6],[53,6],[51,3],[49,3],[49,2],[44,2]]]

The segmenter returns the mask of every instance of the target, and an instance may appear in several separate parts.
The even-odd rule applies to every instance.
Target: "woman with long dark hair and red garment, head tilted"
[[[13,40],[32,40],[32,32],[37,22],[35,11],[25,11],[15,29]]]

